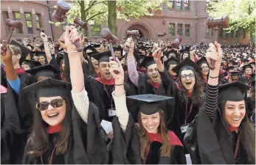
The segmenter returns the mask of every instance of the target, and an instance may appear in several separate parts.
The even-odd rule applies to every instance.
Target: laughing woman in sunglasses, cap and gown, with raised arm
[[[69,36],[70,31],[72,34]],[[65,44],[71,56],[72,92],[70,84],[52,78],[21,90],[23,96],[35,91],[38,100],[23,164],[108,163],[108,151],[100,133],[97,106],[89,102],[86,90],[81,88],[81,81],[76,81],[77,78],[83,79],[82,66],[75,65],[80,62],[80,53],[73,44],[75,40],[80,40],[77,36],[76,29],[66,27]],[[77,68],[81,71],[77,71]],[[27,108],[32,109],[29,104]],[[77,111],[83,111],[83,114]]]

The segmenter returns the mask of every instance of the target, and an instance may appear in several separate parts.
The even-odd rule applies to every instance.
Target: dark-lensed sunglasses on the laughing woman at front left
[[[46,109],[48,109],[50,104],[53,108],[56,109],[56,108],[59,108],[60,106],[63,106],[63,103],[66,103],[66,101],[63,100],[62,98],[58,98],[55,100],[51,100],[50,103],[48,101],[38,102],[35,105],[35,108],[38,109],[39,111],[45,111]]]

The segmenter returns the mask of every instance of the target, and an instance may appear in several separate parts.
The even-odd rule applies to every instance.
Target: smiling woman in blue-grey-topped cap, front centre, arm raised
[[[120,62],[111,63],[115,84],[123,84]],[[119,73],[114,73],[115,70]],[[175,133],[165,127],[164,111],[159,104],[170,98],[160,95],[128,97],[143,102],[139,108],[139,123],[135,124],[128,114],[124,86],[117,86],[112,95],[117,109],[113,120],[114,164],[186,164],[182,144]]]

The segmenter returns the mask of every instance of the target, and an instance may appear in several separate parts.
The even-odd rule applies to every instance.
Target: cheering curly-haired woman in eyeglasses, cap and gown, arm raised
[[[198,72],[201,71],[195,62],[188,57],[173,68],[173,72],[178,74],[178,82],[172,80],[161,62],[161,53],[154,53],[156,65],[162,78],[162,83],[167,88],[167,96],[173,97],[175,102],[173,105],[174,117],[172,120],[175,128],[173,131],[181,138],[187,131],[187,125],[194,120],[198,114],[198,107],[203,103],[204,92],[203,83]],[[172,126],[173,125],[173,126]]]

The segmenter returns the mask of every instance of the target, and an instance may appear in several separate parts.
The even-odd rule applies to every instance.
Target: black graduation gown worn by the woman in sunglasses
[[[41,164],[41,157],[28,155],[32,147],[31,137],[24,151],[23,164]],[[44,164],[48,164],[48,154],[52,148],[43,154]],[[72,109],[72,132],[69,136],[68,152],[64,155],[54,155],[52,164],[108,164],[108,150],[100,132],[100,117],[97,106],[89,104],[88,122],[84,122]]]

